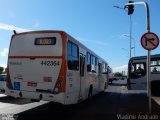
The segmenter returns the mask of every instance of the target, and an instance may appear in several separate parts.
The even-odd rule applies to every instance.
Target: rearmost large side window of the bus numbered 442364
[[[68,41],[67,43],[68,69],[79,70],[79,48],[78,45]]]

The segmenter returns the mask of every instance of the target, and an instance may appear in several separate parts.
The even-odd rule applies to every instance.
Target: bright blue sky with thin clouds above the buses
[[[141,2],[148,2],[151,32],[160,37],[160,0]],[[113,7],[123,8],[126,3],[128,0],[1,0],[0,66],[6,67],[13,30],[63,30],[105,59],[114,72],[126,70],[130,16],[126,10]],[[135,5],[131,18],[135,56],[147,55],[140,43],[147,31],[144,5]],[[160,47],[151,52],[159,53]]]

